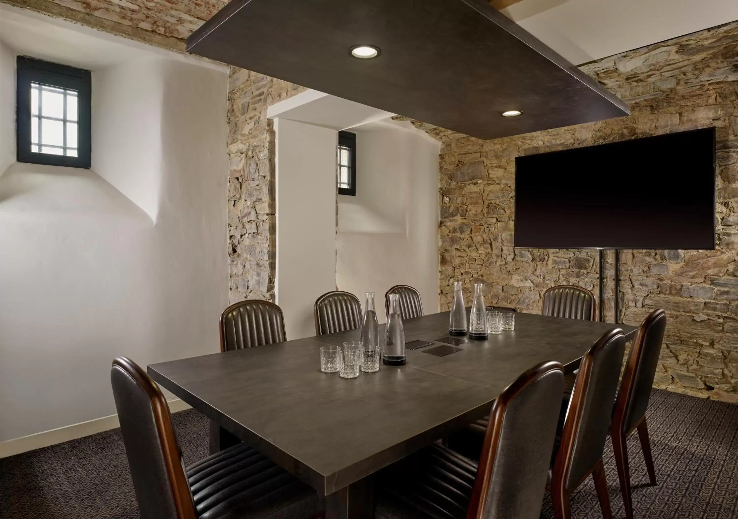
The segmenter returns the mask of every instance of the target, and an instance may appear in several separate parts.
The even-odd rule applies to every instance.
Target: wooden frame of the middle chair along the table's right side
[[[584,396],[587,394],[587,389],[592,379],[592,367],[595,355],[604,345],[618,335],[623,335],[623,331],[615,328],[600,337],[587,353],[584,354],[582,363],[579,365],[579,375],[577,376],[576,385],[571,396],[569,414],[562,432],[559,453],[556,454],[556,462],[554,463],[554,470],[551,474],[551,487],[548,487],[548,490],[551,491],[551,501],[554,503],[554,518],[556,519],[568,519],[571,517],[570,496],[590,475],[592,475],[595,483],[597,498],[602,509],[602,517],[604,519],[611,519],[613,517],[613,513],[610,510],[610,497],[607,495],[607,478],[605,477],[602,458],[599,458],[594,466],[584,474],[584,477],[570,489],[566,488],[566,475],[569,472],[571,457],[573,456],[575,433],[582,422]]]

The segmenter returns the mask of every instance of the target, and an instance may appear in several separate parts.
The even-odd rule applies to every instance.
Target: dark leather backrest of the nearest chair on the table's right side
[[[562,365],[543,362],[495,400],[467,517],[539,518],[563,392]]]

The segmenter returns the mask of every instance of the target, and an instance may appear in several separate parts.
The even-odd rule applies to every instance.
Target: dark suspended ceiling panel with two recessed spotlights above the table
[[[485,140],[630,114],[486,0],[232,0],[187,51]]]

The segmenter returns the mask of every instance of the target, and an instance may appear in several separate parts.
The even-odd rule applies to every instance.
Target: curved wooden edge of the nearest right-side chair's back
[[[489,485],[492,483],[492,469],[494,468],[497,450],[500,447],[503,422],[508,405],[528,385],[551,373],[551,371],[561,371],[563,375],[564,368],[559,362],[541,362],[539,365],[525,371],[494,401],[492,412],[489,413],[489,425],[484,435],[482,453],[477,466],[477,478],[472,491],[472,499],[469,501],[469,509],[466,512],[466,519],[483,519],[486,517],[486,499],[484,496],[488,494]]]

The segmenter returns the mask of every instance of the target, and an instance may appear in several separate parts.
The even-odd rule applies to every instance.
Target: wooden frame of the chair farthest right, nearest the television
[[[631,346],[630,356],[628,357],[628,363],[625,366],[623,378],[620,382],[620,388],[618,390],[618,399],[615,401],[615,410],[613,412],[613,425],[610,428],[610,436],[613,439],[613,453],[615,454],[615,464],[618,467],[618,479],[620,480],[620,491],[623,495],[623,504],[625,507],[625,516],[627,519],[633,519],[633,503],[632,503],[632,489],[630,487],[630,467],[628,464],[628,445],[627,439],[638,431],[638,439],[641,441],[641,450],[644,453],[644,460],[646,461],[646,471],[649,476],[649,483],[652,487],[656,486],[656,471],[653,464],[653,457],[651,453],[651,441],[648,435],[648,425],[646,424],[646,416],[642,416],[630,430],[623,430],[623,422],[625,421],[625,413],[627,412],[628,405],[630,404],[630,391],[633,383],[635,382],[635,374],[638,372],[638,363],[641,360],[641,350],[644,347],[644,341],[646,339],[646,330],[655,321],[666,316],[666,312],[663,309],[655,310],[651,312],[641,326],[638,327],[638,331],[635,332],[635,339]]]

